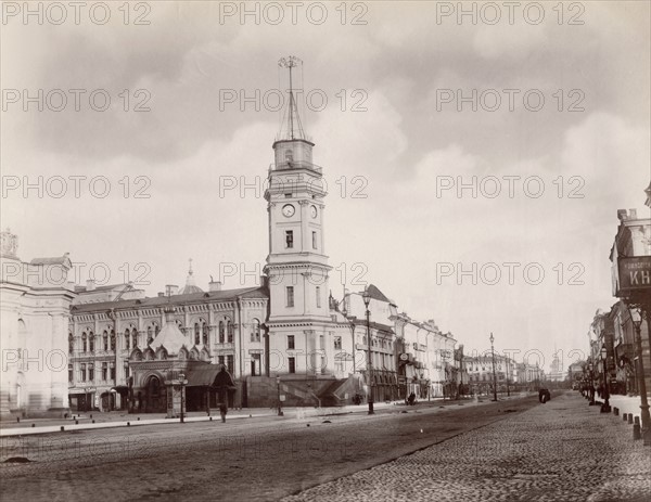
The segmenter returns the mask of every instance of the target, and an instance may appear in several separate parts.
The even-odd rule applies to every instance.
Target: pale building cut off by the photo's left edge
[[[75,297],[67,255],[17,256],[17,236],[1,232],[0,416],[63,416],[68,410],[65,339]]]

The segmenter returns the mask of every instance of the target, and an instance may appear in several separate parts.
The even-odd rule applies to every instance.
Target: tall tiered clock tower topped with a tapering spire
[[[332,374],[333,332],[330,317],[328,256],[324,249],[324,182],[312,163],[315,144],[306,139],[298,116],[292,70],[301,64],[282,59],[289,69],[286,123],[273,143],[265,191],[269,216],[269,371],[279,375]]]

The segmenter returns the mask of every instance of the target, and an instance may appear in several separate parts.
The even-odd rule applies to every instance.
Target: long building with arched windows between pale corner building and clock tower
[[[106,287],[105,292],[110,297],[111,292],[127,286]],[[111,300],[88,286],[78,295],[69,310],[67,342],[73,409],[127,409],[130,361],[154,342],[170,306],[189,359],[224,364],[237,378],[231,404],[245,406],[243,382],[267,371],[263,332],[269,301],[266,287],[221,289],[220,283],[214,282],[203,292],[190,270],[186,286],[180,291],[169,286],[168,295]],[[86,303],[87,295],[94,301]]]

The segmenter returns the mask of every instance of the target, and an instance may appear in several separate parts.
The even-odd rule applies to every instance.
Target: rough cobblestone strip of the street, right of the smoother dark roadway
[[[336,479],[298,501],[648,501],[651,448],[574,394]]]

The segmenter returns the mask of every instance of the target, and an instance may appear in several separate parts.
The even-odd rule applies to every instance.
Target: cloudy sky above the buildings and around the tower
[[[67,252],[77,282],[95,265],[148,295],[189,258],[204,288],[252,284],[278,60],[296,55],[335,296],[373,283],[467,350],[493,332],[565,368],[615,301],[616,211],[648,211],[648,2],[24,7],[4,2],[1,40],[2,226],[23,260]]]

